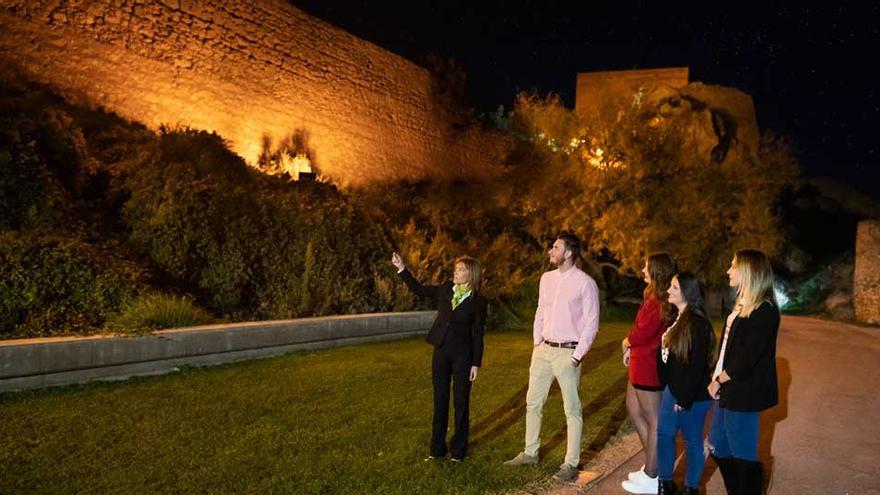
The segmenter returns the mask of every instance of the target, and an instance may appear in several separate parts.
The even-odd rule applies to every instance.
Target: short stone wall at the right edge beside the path
[[[859,222],[853,304],[856,319],[880,324],[880,220]]]

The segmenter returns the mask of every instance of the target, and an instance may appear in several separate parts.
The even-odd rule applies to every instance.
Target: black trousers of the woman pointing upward
[[[434,382],[434,423],[431,431],[431,455],[446,455],[446,428],[449,424],[449,385],[452,384],[455,409],[455,433],[449,450],[452,457],[463,459],[470,429],[471,347],[468,344],[444,343],[434,348],[431,359]]]

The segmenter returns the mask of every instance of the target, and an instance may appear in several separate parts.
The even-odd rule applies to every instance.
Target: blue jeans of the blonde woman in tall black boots
[[[713,401],[709,426],[709,449],[715,457],[758,460],[759,412],[738,412],[724,409]]]

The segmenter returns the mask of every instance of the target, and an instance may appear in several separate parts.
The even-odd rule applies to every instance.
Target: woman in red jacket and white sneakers
[[[663,390],[657,376],[657,349],[663,332],[675,319],[667,291],[676,271],[672,256],[666,253],[648,256],[642,268],[648,284],[644,300],[635,324],[622,343],[624,364],[629,366],[626,409],[645,448],[645,465],[629,473],[629,479],[621,483],[630,493],[657,493],[657,423]]]

